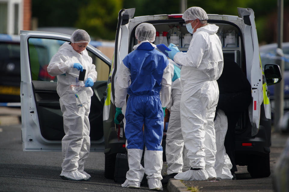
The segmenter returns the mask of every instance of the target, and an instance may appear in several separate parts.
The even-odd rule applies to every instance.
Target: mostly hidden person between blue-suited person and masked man
[[[173,179],[178,173],[183,170],[189,170],[191,167],[188,164],[186,149],[184,149],[184,139],[181,130],[181,65],[176,64],[169,59],[171,65],[172,89],[171,99],[169,105],[166,107],[169,112],[169,125],[166,132],[166,162],[167,162],[167,176],[161,180],[162,184],[167,184],[169,179]],[[184,149],[184,150],[183,150]]]

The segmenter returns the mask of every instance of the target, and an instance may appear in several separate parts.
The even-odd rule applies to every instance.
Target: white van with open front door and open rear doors
[[[137,44],[135,28],[142,22],[148,22],[159,32],[169,32],[170,27],[175,26],[181,33],[179,49],[184,52],[188,49],[183,42],[185,37],[188,40],[190,35],[185,35],[188,32],[182,14],[133,17],[134,12],[135,9],[123,9],[119,12],[112,64],[112,61],[98,49],[87,46],[93,63],[99,63],[97,65],[101,66],[97,69],[107,68],[107,78],[98,79],[93,86],[94,95],[89,115],[90,150],[104,151],[106,178],[114,176],[117,153],[126,152],[123,129],[114,123],[114,86],[122,59]],[[277,83],[275,79],[280,79],[280,76],[272,73],[267,79],[263,79],[253,10],[238,8],[238,13],[239,16],[209,14],[208,22],[219,26],[218,34],[223,44],[224,57],[233,59],[252,85],[252,103],[242,114],[235,128],[236,164],[247,165],[252,177],[267,177],[270,175],[271,108],[267,93],[263,90],[267,90],[266,81],[270,84]],[[21,31],[20,36],[23,150],[61,151],[64,131],[59,97],[56,93],[56,79],[39,78],[39,71],[45,70],[43,66],[49,63],[51,56],[61,44],[69,41],[70,36],[33,31]],[[165,38],[170,41],[168,37]],[[267,67],[279,70],[277,65]],[[162,145],[165,145],[165,140]]]

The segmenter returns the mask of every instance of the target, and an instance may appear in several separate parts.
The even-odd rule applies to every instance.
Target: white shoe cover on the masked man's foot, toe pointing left
[[[185,181],[204,181],[209,178],[208,173],[204,169],[200,170],[188,170],[177,174],[175,179],[182,179]]]

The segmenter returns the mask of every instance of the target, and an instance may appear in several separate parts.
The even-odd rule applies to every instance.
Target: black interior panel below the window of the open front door
[[[104,106],[103,92],[106,81],[94,83],[93,96],[89,113],[90,139],[99,140],[103,136],[102,111]],[[56,82],[32,81],[38,119],[42,137],[47,140],[61,140],[65,135],[63,130],[63,116],[56,92]]]

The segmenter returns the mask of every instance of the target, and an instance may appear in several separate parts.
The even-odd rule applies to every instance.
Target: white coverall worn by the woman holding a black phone
[[[84,81],[79,81],[79,70],[71,67],[73,63],[80,63],[86,69]],[[84,172],[84,162],[90,150],[90,125],[89,111],[90,99],[93,95],[91,87],[85,87],[89,103],[78,106],[71,84],[84,85],[86,79],[96,81],[97,72],[92,58],[85,49],[81,53],[76,52],[69,42],[64,43],[58,52],[51,58],[47,67],[51,76],[57,76],[57,93],[60,97],[60,107],[63,113],[63,127],[65,136],[62,138],[62,171]]]

